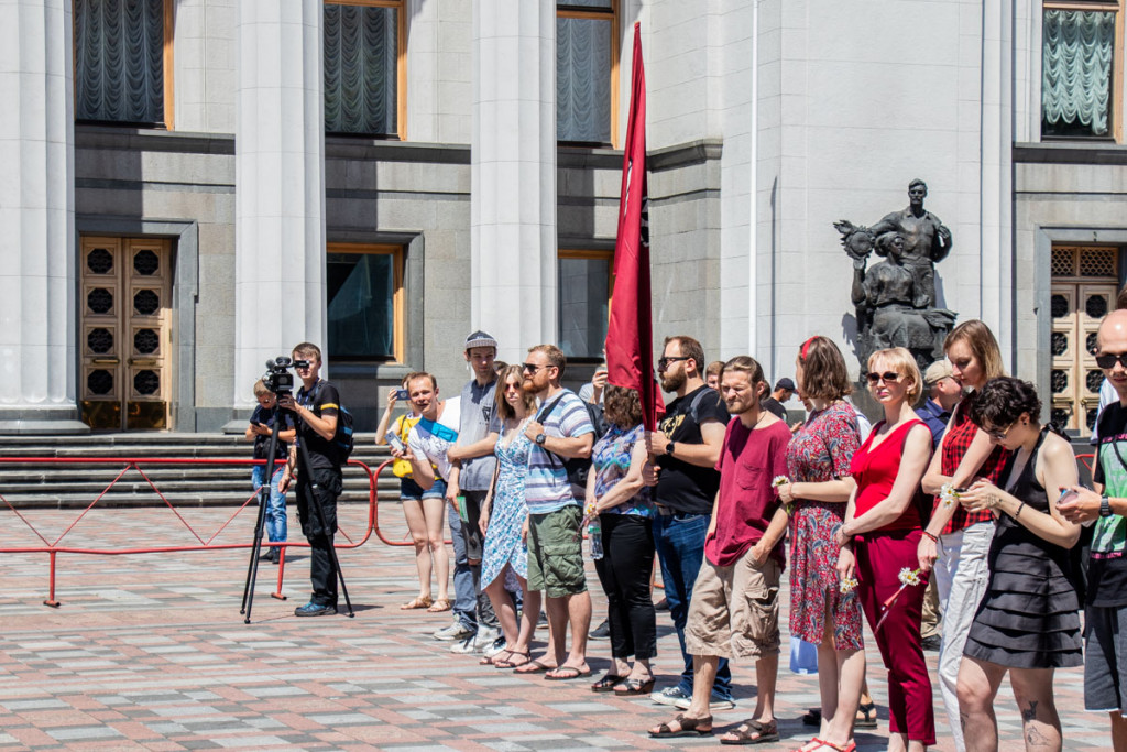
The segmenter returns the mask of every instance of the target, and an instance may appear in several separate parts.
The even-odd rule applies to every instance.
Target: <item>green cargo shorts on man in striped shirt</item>
[[[583,510],[578,505],[529,515],[529,590],[542,590],[548,598],[587,590],[580,522]]]

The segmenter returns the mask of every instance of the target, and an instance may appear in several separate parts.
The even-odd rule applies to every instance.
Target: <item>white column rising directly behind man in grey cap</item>
[[[556,3],[473,0],[470,328],[554,343]]]

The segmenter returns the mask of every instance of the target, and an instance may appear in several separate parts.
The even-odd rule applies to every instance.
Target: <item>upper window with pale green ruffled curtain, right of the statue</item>
[[[1046,2],[1041,23],[1041,135],[1115,135],[1119,0]]]

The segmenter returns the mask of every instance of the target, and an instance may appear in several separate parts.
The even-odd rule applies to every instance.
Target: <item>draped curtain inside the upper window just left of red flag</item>
[[[611,23],[556,19],[556,138],[611,140]]]

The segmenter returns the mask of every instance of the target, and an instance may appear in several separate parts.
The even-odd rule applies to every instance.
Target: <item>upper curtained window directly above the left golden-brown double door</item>
[[[167,125],[169,0],[74,0],[74,116]]]

